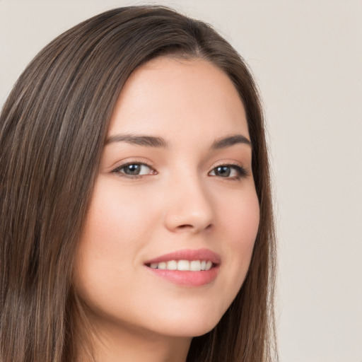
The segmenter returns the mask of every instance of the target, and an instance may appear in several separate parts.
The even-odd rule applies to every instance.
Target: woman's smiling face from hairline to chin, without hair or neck
[[[218,323],[259,225],[249,139],[239,95],[213,64],[158,57],[134,71],[76,257],[98,330],[193,337]]]

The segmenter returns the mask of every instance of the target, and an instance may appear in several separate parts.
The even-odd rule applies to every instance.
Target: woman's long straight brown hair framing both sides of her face
[[[0,361],[71,362],[78,340],[74,254],[108,122],[137,66],[160,55],[206,59],[240,93],[252,141],[260,224],[245,282],[218,325],[192,339],[187,361],[276,357],[275,237],[257,87],[209,25],[160,6],[117,8],[76,25],[25,69],[0,117]]]

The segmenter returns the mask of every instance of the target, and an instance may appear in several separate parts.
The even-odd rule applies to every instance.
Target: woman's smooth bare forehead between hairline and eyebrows
[[[145,132],[248,137],[245,109],[228,76],[203,59],[170,57],[136,69],[115,105],[110,135]]]

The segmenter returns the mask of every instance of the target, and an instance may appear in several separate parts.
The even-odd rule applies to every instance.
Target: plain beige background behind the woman
[[[0,0],[0,105],[56,35],[140,1]],[[265,103],[281,361],[362,362],[362,1],[158,1],[213,24]],[[227,361],[226,361],[227,362]]]

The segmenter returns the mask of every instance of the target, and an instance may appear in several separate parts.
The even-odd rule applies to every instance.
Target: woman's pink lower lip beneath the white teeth
[[[152,269],[146,267],[153,275],[170,281],[181,286],[204,286],[210,284],[216,279],[219,267],[212,267],[209,270],[202,271],[182,271],[168,269]]]

